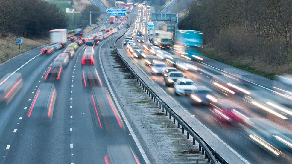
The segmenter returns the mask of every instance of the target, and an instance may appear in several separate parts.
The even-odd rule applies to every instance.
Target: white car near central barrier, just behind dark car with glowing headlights
[[[195,84],[191,79],[177,79],[174,82],[174,92],[176,95],[190,95],[197,90],[197,84]]]

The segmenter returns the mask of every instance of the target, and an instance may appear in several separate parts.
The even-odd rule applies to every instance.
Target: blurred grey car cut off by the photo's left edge
[[[21,73],[8,73],[0,80],[0,103],[8,104],[23,85]]]

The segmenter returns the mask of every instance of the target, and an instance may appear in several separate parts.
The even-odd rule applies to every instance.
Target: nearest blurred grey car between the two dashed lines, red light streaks
[[[53,83],[42,83],[34,96],[28,111],[28,118],[51,122],[57,91]]]

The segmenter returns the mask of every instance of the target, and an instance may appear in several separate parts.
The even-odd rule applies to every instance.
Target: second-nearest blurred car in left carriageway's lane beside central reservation
[[[124,123],[106,87],[93,87],[89,94],[89,103],[97,131],[119,134],[125,130]]]

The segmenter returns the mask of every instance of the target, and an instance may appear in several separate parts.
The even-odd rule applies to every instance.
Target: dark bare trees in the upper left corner
[[[47,35],[68,26],[68,16],[55,4],[43,0],[0,0],[0,33],[23,37]]]

